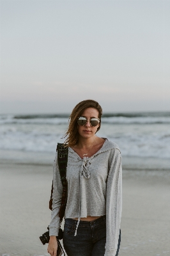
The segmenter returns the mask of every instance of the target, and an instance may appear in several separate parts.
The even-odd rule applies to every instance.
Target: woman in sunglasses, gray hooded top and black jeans
[[[121,221],[121,154],[116,143],[97,137],[102,108],[83,100],[70,115],[63,246],[68,256],[117,256]],[[52,219],[48,252],[56,256],[62,183],[54,164]]]

